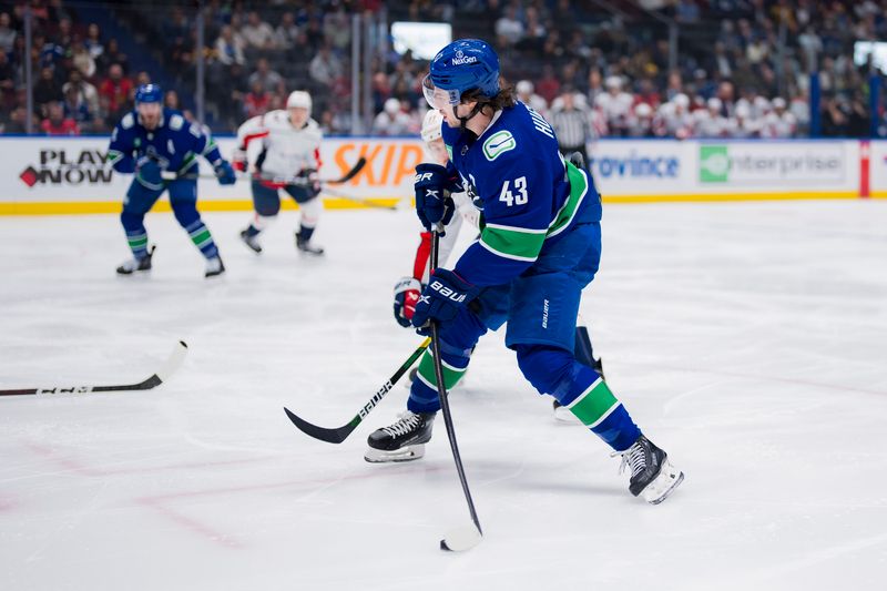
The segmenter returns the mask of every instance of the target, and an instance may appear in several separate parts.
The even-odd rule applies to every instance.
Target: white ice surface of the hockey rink
[[[397,387],[346,422],[420,338],[391,317],[409,212],[328,212],[323,259],[283,215],[208,214],[227,276],[151,214],[150,277],[116,277],[115,216],[0,218],[0,589],[880,590],[887,575],[887,202],[608,206],[582,313],[611,387],[686,473],[652,507],[619,460],[554,421],[502,337],[451,404],[483,542],[442,424],[424,459],[363,460]]]

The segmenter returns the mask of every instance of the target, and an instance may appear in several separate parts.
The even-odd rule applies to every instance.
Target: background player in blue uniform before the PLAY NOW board
[[[154,246],[149,249],[145,214],[164,191],[179,224],[206,258],[206,277],[221,275],[225,265],[218,247],[197,212],[197,156],[205,157],[220,184],[236,181],[234,169],[222,157],[213,139],[179,111],[161,106],[163,91],[143,84],[135,92],[135,110],[126,113],[111,134],[108,156],[120,173],[135,173],[123,201],[120,221],[133,258],[118,267],[121,275],[151,269]]]

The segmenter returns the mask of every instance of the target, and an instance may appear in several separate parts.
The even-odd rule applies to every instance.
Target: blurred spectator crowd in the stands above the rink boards
[[[34,121],[48,134],[108,133],[132,108],[133,72],[116,39],[77,18],[77,2],[31,0],[32,44],[22,34],[23,3],[0,1],[0,92],[4,133],[24,131],[33,67]],[[166,82],[167,104],[191,108],[196,29],[193,8],[159,11],[114,3],[133,39],[163,40],[151,54]],[[350,119],[351,16],[378,22],[447,21],[456,37],[489,39],[519,98],[546,115],[570,147],[615,137],[792,137],[809,133],[810,74],[818,72],[818,118],[826,136],[871,129],[869,89],[883,75],[854,62],[854,42],[887,37],[887,0],[207,0],[204,8],[206,119],[234,131],[245,119],[279,109],[289,91],[308,90],[313,115],[328,134],[353,123],[375,135],[415,135],[426,109],[420,83],[428,62],[378,42],[371,55],[371,120]],[[679,27],[676,62],[667,28]],[[361,68],[361,64],[357,64]],[[361,81],[363,84],[363,81]],[[187,105],[180,104],[177,89]],[[876,129],[887,135],[884,103]],[[190,112],[188,112],[188,116]]]

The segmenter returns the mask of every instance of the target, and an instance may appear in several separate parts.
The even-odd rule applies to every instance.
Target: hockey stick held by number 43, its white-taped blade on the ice
[[[431,232],[431,256],[429,257],[429,275],[437,268],[437,251],[440,242],[439,230]],[[447,386],[443,384],[443,369],[440,363],[440,337],[437,320],[431,320],[431,354],[435,361],[435,378],[437,379],[437,394],[440,397],[440,410],[443,412],[443,425],[447,427],[447,437],[450,440],[452,460],[456,462],[456,471],[459,472],[459,482],[462,485],[465,500],[468,502],[468,512],[471,513],[471,521],[475,527],[455,528],[448,531],[440,540],[440,549],[450,552],[461,552],[476,547],[483,539],[483,530],[480,529],[480,520],[475,509],[475,501],[471,500],[471,491],[468,489],[468,479],[462,467],[462,457],[459,455],[459,445],[456,442],[456,428],[452,425],[450,404],[447,399]]]

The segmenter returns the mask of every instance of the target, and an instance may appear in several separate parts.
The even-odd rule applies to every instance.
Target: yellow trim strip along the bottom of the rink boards
[[[705,194],[675,194],[675,195],[610,195],[604,196],[608,204],[619,203],[704,203],[704,202],[738,202],[738,201],[789,201],[789,200],[855,200],[859,197],[856,191],[787,191],[773,193],[705,193]],[[887,191],[873,191],[869,198],[887,198]],[[399,197],[379,197],[366,200],[377,205],[392,207],[400,201]],[[283,210],[297,210],[298,206],[290,200],[281,200]],[[354,201],[324,197],[324,207],[327,210],[359,210],[367,208]],[[72,201],[72,202],[20,202],[0,203],[0,215],[81,215],[120,213],[122,205],[112,201]],[[251,200],[215,200],[201,201],[202,212],[251,212]],[[157,202],[153,212],[171,212],[167,201]]]

